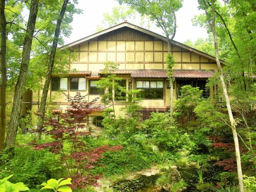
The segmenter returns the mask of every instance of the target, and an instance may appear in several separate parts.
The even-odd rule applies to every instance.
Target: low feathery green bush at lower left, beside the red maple
[[[10,182],[24,182],[29,188],[35,188],[55,177],[56,173],[61,174],[60,162],[48,150],[34,151],[31,147],[15,147],[12,155],[3,153],[0,157],[0,178],[13,174]]]

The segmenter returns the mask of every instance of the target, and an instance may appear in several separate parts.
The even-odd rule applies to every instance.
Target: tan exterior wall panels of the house
[[[114,37],[113,37],[114,38]],[[138,70],[138,69],[166,69],[165,56],[167,54],[167,44],[162,40],[89,40],[82,42],[79,45],[72,47],[72,49],[78,53],[76,61],[72,61],[70,70],[77,71],[92,71],[93,74],[98,73],[99,70],[104,68],[104,62],[114,61],[119,63],[119,69],[122,70]],[[176,45],[172,45],[172,55],[175,60],[174,69],[180,70],[215,70],[217,71],[217,65],[214,60],[208,59],[204,56],[200,56],[189,50],[185,50]],[[126,88],[128,89],[128,79],[131,79],[130,75],[119,75],[120,77],[127,79]],[[81,76],[82,77],[82,76]],[[89,93],[89,80],[87,79],[86,91],[79,91],[83,95]],[[175,82],[176,83],[176,82]],[[68,84],[69,87],[69,84]],[[133,87],[134,84],[133,84]],[[177,97],[177,84],[175,84],[174,100]],[[212,88],[210,89],[210,97],[212,98]],[[66,94],[74,95],[76,91],[65,91]],[[41,91],[39,91],[39,96]],[[165,107],[169,106],[169,94],[170,90],[166,89],[166,81],[164,80],[164,99],[146,100],[141,101],[141,105],[144,107]],[[99,95],[88,95],[88,100],[99,97]],[[49,98],[65,110],[67,102],[63,94],[59,94],[56,91],[49,90]],[[33,92],[33,110],[38,108],[38,92]],[[119,101],[115,102],[116,115],[122,115],[120,110],[125,105]],[[96,114],[99,115],[99,114]]]

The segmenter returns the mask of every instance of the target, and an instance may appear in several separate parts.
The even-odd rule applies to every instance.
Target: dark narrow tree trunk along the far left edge
[[[0,84],[0,151],[4,149],[5,145],[5,130],[6,130],[6,18],[5,18],[5,0],[0,2],[0,27],[1,27],[1,48],[0,48],[0,62],[1,62],[1,84]]]

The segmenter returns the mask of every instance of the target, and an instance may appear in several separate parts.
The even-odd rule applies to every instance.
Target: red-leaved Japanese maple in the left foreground
[[[34,146],[35,150],[50,148],[50,151],[58,154],[63,162],[69,177],[73,179],[72,188],[77,186],[86,187],[88,184],[95,185],[98,176],[91,176],[88,172],[96,164],[102,153],[108,151],[118,151],[122,146],[102,145],[97,148],[88,148],[86,142],[81,138],[89,134],[84,132],[86,125],[83,124],[87,115],[94,111],[101,110],[100,106],[95,106],[97,98],[88,102],[86,96],[76,93],[74,97],[66,95],[71,103],[70,108],[65,113],[60,114],[60,120],[53,117],[46,119],[41,132],[51,135],[53,142],[41,143]]]

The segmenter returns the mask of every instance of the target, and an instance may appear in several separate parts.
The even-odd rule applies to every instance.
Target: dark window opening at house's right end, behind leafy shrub
[[[182,86],[190,85],[194,88],[198,87],[199,90],[203,90],[203,98],[208,98],[210,96],[209,90],[206,88],[206,80],[178,80],[178,97],[181,96]]]

